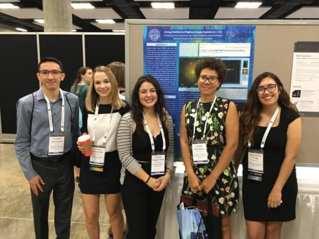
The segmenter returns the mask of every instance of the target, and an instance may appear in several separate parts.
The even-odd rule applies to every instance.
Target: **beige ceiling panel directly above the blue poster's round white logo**
[[[140,8],[146,19],[188,19],[189,8],[153,9]]]

